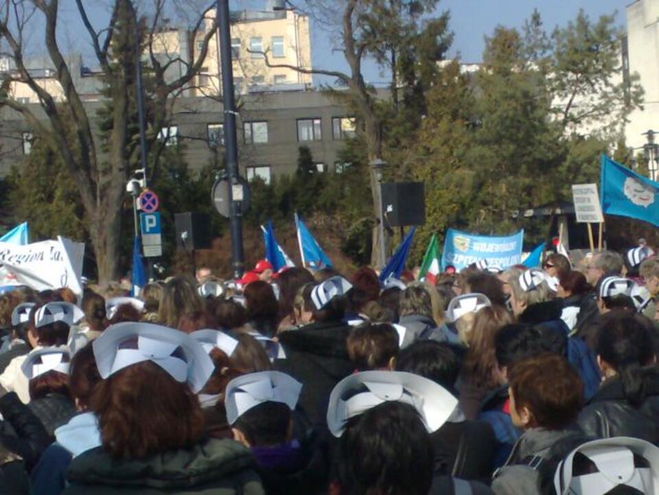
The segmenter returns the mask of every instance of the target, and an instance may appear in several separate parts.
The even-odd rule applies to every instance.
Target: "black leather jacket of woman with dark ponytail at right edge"
[[[659,369],[647,369],[645,400],[629,404],[618,377],[605,381],[579,415],[579,426],[593,437],[634,437],[659,443]]]

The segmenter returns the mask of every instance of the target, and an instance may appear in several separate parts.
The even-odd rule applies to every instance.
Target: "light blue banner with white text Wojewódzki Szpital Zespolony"
[[[507,237],[489,237],[448,229],[441,268],[446,270],[452,265],[461,270],[478,260],[487,260],[489,265],[505,269],[522,261],[523,242],[524,230]]]

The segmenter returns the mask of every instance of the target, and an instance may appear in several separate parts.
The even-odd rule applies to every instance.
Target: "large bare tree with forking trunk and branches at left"
[[[137,49],[148,53],[152,76],[152,125],[149,141],[157,141],[161,128],[171,115],[172,100],[185,91],[186,85],[199,72],[207,55],[208,44],[216,32],[215,16],[209,16],[213,5],[198,14],[192,27],[191,37],[196,40],[203,34],[198,57],[189,60],[174,54],[167,60],[157,56],[159,33],[163,27],[166,0],[153,0],[150,21],[138,19],[131,0],[115,0],[108,25],[98,31],[93,27],[82,0],[76,0],[76,14],[89,36],[93,52],[100,65],[100,77],[107,86],[111,98],[111,130],[107,146],[95,133],[93,115],[84,105],[83,97],[76,88],[71,67],[58,45],[58,23],[62,16],[58,0],[3,0],[0,2],[0,41],[8,47],[8,56],[15,70],[6,74],[2,81],[0,106],[20,113],[28,125],[45,139],[67,164],[71,176],[78,185],[80,199],[86,216],[86,226],[95,254],[98,277],[102,284],[119,275],[119,235],[121,227],[124,187],[130,163],[135,158],[138,141],[130,135],[129,122],[133,119],[130,94],[135,91],[135,61]],[[89,5],[89,3],[88,3]],[[45,23],[44,47],[54,67],[55,78],[62,94],[49,93],[28,69],[25,62],[24,36],[27,23],[36,16]],[[210,29],[204,30],[205,23]],[[119,39],[121,38],[121,39]],[[139,43],[137,43],[139,39]],[[115,47],[113,47],[115,43]],[[119,50],[117,52],[117,50]],[[141,55],[141,54],[140,54]],[[174,64],[184,67],[180,76],[167,77],[167,69]],[[10,96],[14,84],[26,84],[38,97],[46,120],[39,119],[33,106],[22,104]],[[134,119],[133,119],[134,120]]]

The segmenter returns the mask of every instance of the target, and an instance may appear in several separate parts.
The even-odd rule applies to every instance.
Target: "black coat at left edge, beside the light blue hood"
[[[18,454],[31,470],[51,441],[41,420],[14,392],[0,398],[0,415],[0,445]]]

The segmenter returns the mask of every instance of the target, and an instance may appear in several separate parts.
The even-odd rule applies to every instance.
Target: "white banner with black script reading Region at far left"
[[[83,255],[84,244],[62,237],[23,246],[0,242],[0,264],[7,273],[1,283],[34,290],[69,287],[82,295]]]

